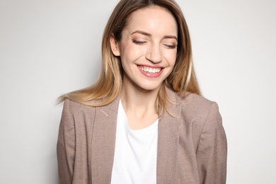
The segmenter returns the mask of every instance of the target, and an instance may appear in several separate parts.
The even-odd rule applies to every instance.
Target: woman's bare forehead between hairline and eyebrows
[[[144,30],[149,33],[166,32],[177,36],[176,18],[166,8],[149,6],[134,11],[127,21],[125,30]]]

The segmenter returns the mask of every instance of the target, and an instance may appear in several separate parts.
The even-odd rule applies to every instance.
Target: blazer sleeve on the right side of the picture
[[[201,184],[226,183],[227,142],[217,103],[212,103],[197,146]]]

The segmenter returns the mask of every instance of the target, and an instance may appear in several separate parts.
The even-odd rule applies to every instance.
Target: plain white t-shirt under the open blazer
[[[158,123],[132,130],[120,101],[111,184],[156,183]]]

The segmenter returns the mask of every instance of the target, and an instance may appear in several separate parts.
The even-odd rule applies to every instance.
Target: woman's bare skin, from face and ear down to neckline
[[[155,101],[176,63],[178,25],[165,8],[149,6],[132,13],[122,39],[110,38],[123,68],[121,101],[130,127],[139,130],[158,118]]]

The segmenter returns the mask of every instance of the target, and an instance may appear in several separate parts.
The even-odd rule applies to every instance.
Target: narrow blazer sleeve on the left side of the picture
[[[74,118],[70,113],[70,100],[64,101],[62,119],[59,125],[57,139],[57,164],[59,182],[72,183],[75,156],[75,127]]]

